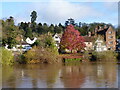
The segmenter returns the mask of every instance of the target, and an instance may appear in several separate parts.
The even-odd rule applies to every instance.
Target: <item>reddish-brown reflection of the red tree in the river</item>
[[[64,87],[79,88],[85,80],[85,75],[79,66],[64,66],[61,72],[61,81]]]

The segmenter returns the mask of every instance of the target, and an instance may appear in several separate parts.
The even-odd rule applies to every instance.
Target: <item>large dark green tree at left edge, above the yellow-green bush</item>
[[[8,44],[9,48],[12,48],[17,44],[16,37],[22,34],[17,26],[14,25],[14,18],[2,20],[2,45]]]

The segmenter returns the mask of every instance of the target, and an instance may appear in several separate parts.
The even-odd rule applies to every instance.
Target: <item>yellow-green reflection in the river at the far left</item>
[[[19,71],[13,66],[2,66],[2,86],[5,88],[17,88],[17,85],[21,83],[18,80]]]

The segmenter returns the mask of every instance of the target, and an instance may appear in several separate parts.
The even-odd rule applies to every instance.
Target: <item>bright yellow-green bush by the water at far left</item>
[[[14,63],[14,56],[11,51],[7,49],[0,48],[2,50],[2,60],[1,63],[5,65],[12,65]]]

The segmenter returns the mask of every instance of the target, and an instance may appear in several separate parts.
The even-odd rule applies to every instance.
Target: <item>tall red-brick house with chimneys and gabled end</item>
[[[96,28],[95,36],[97,37],[99,35],[104,38],[107,50],[116,50],[116,32],[111,26],[104,26],[104,28]]]

